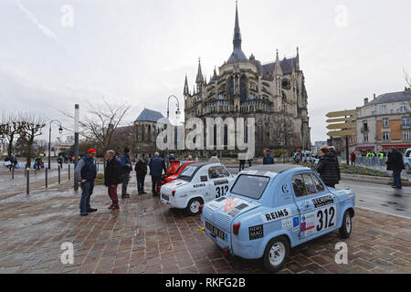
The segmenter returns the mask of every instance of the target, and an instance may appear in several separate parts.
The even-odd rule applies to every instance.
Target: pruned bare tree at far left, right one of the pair
[[[33,153],[33,144],[36,137],[42,134],[41,130],[46,127],[46,124],[44,123],[43,118],[28,112],[26,114],[20,115],[18,123],[20,138],[26,143],[26,168],[29,168],[31,164],[31,156]]]

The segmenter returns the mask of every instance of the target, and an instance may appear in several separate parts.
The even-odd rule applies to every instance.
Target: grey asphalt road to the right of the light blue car
[[[237,167],[228,167],[228,170],[238,173]],[[337,189],[353,190],[357,207],[411,219],[411,187],[394,190],[384,184],[341,181]]]

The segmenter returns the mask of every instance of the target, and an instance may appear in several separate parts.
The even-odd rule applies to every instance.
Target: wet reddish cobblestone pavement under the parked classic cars
[[[197,231],[199,216],[150,194],[138,197],[136,183],[115,215],[107,210],[105,188],[97,186],[91,203],[99,212],[87,217],[79,216],[80,194],[70,185],[0,201],[0,273],[265,273],[260,260],[225,258]],[[334,232],[292,249],[280,273],[411,273],[410,224],[357,209],[353,235],[345,240],[348,265],[334,262],[341,241]],[[74,265],[60,262],[64,242],[74,245]]]

